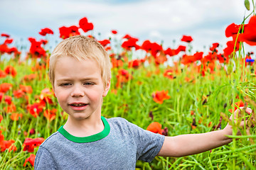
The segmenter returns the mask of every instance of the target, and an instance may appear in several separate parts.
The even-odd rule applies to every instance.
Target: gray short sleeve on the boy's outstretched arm
[[[127,121],[129,130],[137,144],[137,159],[151,162],[164,144],[164,135],[159,135]]]

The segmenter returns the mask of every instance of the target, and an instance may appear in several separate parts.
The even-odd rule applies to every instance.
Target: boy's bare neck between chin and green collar
[[[75,137],[87,137],[102,132],[105,127],[101,116],[95,115],[84,120],[73,120],[69,117],[63,128]]]

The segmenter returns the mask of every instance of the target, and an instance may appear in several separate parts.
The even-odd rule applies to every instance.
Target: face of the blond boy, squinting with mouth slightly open
[[[55,96],[71,119],[82,120],[91,115],[100,115],[102,98],[110,89],[110,81],[104,88],[96,62],[60,57],[55,64],[54,74]]]

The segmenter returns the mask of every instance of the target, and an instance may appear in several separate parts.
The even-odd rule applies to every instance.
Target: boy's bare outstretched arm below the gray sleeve
[[[234,115],[237,114],[235,111]],[[250,108],[246,108],[246,113],[251,113]],[[230,117],[232,118],[232,117]],[[233,140],[226,135],[232,135],[232,126],[227,125],[223,130],[206,132],[201,134],[178,135],[175,137],[165,137],[164,144],[158,156],[162,157],[184,157],[190,154],[206,152],[210,149],[220,147]]]

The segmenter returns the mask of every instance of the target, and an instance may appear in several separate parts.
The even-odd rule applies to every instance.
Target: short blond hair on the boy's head
[[[77,35],[60,42],[50,55],[49,79],[54,85],[54,69],[58,58],[62,56],[74,57],[81,60],[95,61],[100,67],[104,87],[111,79],[110,57],[102,45],[93,38],[87,38],[84,35]]]

